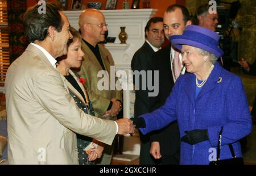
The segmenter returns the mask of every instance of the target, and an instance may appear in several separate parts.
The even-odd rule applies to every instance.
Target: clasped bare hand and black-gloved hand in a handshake
[[[126,135],[127,133],[130,133],[130,135],[133,136],[135,127],[146,127],[146,123],[143,118],[123,118],[118,119],[115,122],[118,124],[118,135]]]

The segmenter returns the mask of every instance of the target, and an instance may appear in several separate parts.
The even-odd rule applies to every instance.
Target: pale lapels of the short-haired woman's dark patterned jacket
[[[85,98],[88,99],[88,96],[86,94],[86,91],[84,89],[84,86],[82,85],[81,82],[79,82],[79,79],[75,76],[75,73],[72,72],[72,70],[69,70],[69,74],[72,75],[73,78],[75,78],[76,82],[78,83],[79,87],[82,89],[82,92],[84,93],[85,95]],[[65,78],[65,77],[64,77]],[[82,103],[88,105],[87,101],[85,102],[84,98],[82,97],[82,95],[79,93],[79,91],[77,91],[72,85],[71,83],[65,78],[65,82],[67,83],[67,86],[68,86],[68,90],[69,91],[72,91],[77,98],[79,98]]]

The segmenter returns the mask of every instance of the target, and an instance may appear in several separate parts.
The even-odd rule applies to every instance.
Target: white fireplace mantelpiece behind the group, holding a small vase
[[[108,36],[116,37],[114,43],[107,43],[105,47],[109,49],[115,62],[116,70],[124,70],[126,73],[131,70],[131,59],[134,53],[142,47],[144,38],[144,27],[147,21],[155,15],[156,9],[127,9],[127,10],[101,10],[108,23]],[[79,29],[78,19],[82,11],[64,11],[68,16],[72,27]],[[128,35],[127,44],[120,44],[118,35],[120,27],[126,27]],[[128,78],[128,79],[127,79]],[[122,79],[129,85],[132,80],[127,77]],[[123,116],[124,118],[133,117],[134,93],[129,90],[123,90]],[[125,137],[123,153],[139,154],[138,135],[134,137]]]

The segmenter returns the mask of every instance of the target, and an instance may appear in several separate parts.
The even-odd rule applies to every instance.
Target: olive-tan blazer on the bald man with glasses
[[[114,66],[114,60],[108,49],[104,47],[104,45],[98,45],[102,62],[105,66],[106,71],[109,74],[110,78],[110,66]],[[96,56],[90,50],[88,45],[82,41],[82,51],[85,53],[81,65],[81,69],[79,74],[83,77],[86,81],[84,86],[89,94],[90,101],[93,104],[93,108],[95,110],[95,115],[101,118],[102,115],[108,109],[110,99],[117,98],[122,101],[122,92],[115,90],[99,90],[97,85],[98,81],[102,79],[101,77],[97,77],[98,72],[102,70],[100,62],[98,62]],[[115,78],[117,81],[117,78]],[[110,86],[110,79],[109,79],[109,86]]]

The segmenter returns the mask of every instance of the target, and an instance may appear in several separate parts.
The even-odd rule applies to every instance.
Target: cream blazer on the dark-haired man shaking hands
[[[84,114],[33,45],[11,64],[5,91],[10,164],[78,164],[74,132],[112,144],[114,122]]]

